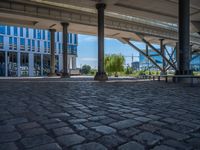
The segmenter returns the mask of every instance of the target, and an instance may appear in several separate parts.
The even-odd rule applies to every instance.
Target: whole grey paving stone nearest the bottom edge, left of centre
[[[80,144],[83,141],[85,141],[85,138],[78,134],[63,135],[63,136],[57,137],[56,139],[61,145],[64,145],[67,147]]]

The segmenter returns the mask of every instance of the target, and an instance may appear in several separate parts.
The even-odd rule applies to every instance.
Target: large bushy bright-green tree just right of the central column
[[[114,73],[114,75],[117,77],[118,72],[124,71],[125,58],[121,54],[106,55],[104,61],[105,61],[105,70],[109,75]]]

